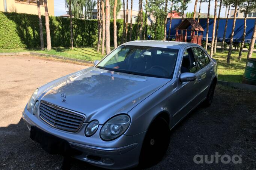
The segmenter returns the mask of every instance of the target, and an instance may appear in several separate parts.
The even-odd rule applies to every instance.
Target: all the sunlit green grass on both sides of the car
[[[113,47],[111,47],[111,50],[112,49]],[[96,47],[77,47],[73,50],[65,47],[53,47],[53,49],[50,51],[41,51],[38,49],[0,49],[0,53],[33,51],[38,53],[63,56],[67,58],[95,61],[100,60],[105,56],[101,55],[101,52],[96,52],[96,50]],[[227,52],[227,50],[223,53],[220,52],[220,50],[217,50],[217,53],[213,57],[218,62],[218,80],[241,83],[246,64],[247,52],[242,53],[242,61],[238,62],[237,57],[239,52],[233,51],[230,59],[230,65],[226,64]],[[256,58],[256,53],[253,53],[253,58]]]

